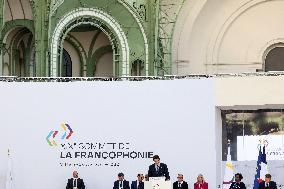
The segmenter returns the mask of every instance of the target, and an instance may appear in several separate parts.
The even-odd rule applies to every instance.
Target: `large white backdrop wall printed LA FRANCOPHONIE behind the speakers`
[[[152,156],[171,180],[203,173],[216,188],[213,81],[1,83],[0,188],[10,149],[15,189],[63,189],[77,170],[87,189],[146,173]]]

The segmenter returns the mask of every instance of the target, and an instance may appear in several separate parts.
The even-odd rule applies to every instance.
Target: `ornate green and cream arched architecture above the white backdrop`
[[[0,8],[0,75],[284,71],[284,1],[0,0]]]

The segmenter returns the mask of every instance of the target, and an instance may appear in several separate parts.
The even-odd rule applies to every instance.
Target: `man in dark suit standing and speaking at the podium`
[[[153,156],[154,164],[149,166],[148,177],[166,177],[170,180],[169,170],[166,164],[160,162],[158,155]]]

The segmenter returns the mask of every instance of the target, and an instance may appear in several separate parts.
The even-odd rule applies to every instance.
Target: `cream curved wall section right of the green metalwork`
[[[186,1],[175,27],[172,73],[265,71],[267,49],[283,39],[283,7],[276,0]]]

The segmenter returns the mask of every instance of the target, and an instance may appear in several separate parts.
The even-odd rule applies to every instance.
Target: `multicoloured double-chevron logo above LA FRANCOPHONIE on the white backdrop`
[[[64,133],[63,135],[61,136],[61,139],[62,140],[68,140],[70,139],[70,137],[72,136],[73,134],[73,130],[72,128],[70,127],[69,124],[67,123],[62,123],[61,124],[61,128],[63,129]],[[59,131],[50,131],[49,134],[47,135],[46,137],[46,141],[48,143],[49,146],[57,146],[57,143],[55,141],[55,138],[57,137]]]

